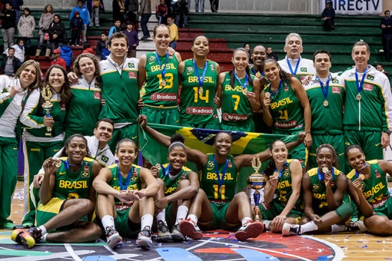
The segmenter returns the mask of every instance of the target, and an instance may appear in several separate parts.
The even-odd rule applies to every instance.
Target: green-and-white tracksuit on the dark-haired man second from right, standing
[[[346,98],[345,82],[342,77],[329,77],[327,99],[316,76],[305,86],[312,110],[312,146],[308,152],[308,168],[317,167],[316,150],[321,144],[331,144],[338,155],[339,166],[345,166],[343,138],[343,106]],[[327,87],[327,79],[323,83]],[[327,101],[327,103],[326,103]],[[324,104],[325,103],[325,104]],[[325,106],[327,105],[327,106]]]

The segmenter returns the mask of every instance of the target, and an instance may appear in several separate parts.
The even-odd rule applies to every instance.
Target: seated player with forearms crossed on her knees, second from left
[[[140,231],[136,243],[150,248],[153,196],[158,192],[158,182],[150,170],[132,164],[137,155],[132,140],[122,139],[115,154],[118,164],[103,168],[93,184],[98,193],[96,211],[108,246],[116,248],[122,243],[122,236],[132,238]]]

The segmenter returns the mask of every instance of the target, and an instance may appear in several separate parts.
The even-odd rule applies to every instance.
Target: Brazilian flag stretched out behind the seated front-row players
[[[188,148],[195,148],[203,153],[215,153],[213,148],[213,143],[215,135],[220,130],[214,129],[197,129],[191,127],[179,127],[171,125],[158,125],[150,123],[149,127],[156,129],[158,132],[165,134],[167,136],[172,136],[174,134],[181,134],[185,138],[185,146]],[[254,132],[229,132],[232,134],[233,144],[232,155],[241,154],[255,154],[261,151],[265,151],[270,148],[270,144],[275,139],[282,139],[284,142],[289,143],[296,141],[298,135],[276,135],[276,134],[260,134]],[[153,139],[147,132],[144,132],[141,127],[139,127],[139,145],[141,149],[141,154],[146,158],[151,164],[156,165],[156,163],[167,163],[167,148],[162,146]],[[268,162],[263,163],[262,170],[267,166]],[[186,163],[186,166],[198,172],[196,165],[192,163]],[[236,191],[241,191],[246,186],[246,178],[254,172],[252,167],[245,167],[241,170],[239,179],[236,185]]]

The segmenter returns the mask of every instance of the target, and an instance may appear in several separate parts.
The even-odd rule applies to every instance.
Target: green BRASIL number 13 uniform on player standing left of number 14
[[[156,52],[146,54],[146,94],[143,96],[144,108],[141,113],[148,117],[148,122],[165,125],[179,125],[177,109],[178,65],[174,56],[158,56]],[[163,78],[163,70],[165,76]],[[165,84],[162,84],[162,83]]]

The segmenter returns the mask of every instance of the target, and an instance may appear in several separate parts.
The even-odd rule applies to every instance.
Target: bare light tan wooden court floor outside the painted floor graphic
[[[23,182],[18,182],[12,204],[11,219],[20,224],[23,215]],[[380,237],[371,234],[326,234],[317,235],[324,241],[334,243],[344,253],[343,260],[392,260],[392,236]],[[322,250],[319,250],[322,252]]]

